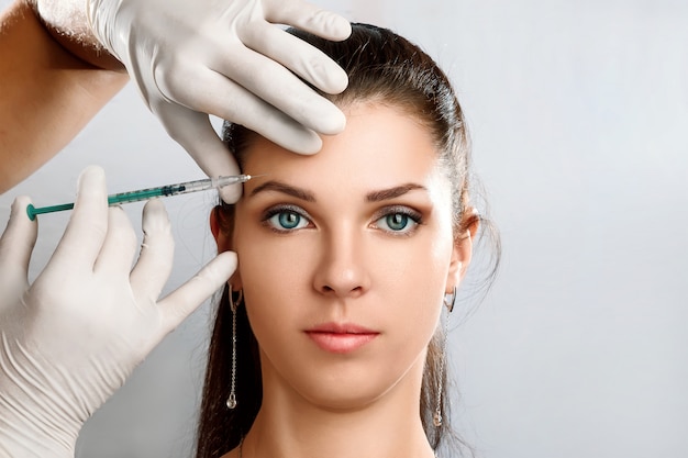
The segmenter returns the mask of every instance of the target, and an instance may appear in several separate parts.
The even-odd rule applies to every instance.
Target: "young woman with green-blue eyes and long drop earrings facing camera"
[[[211,214],[240,264],[218,308],[197,456],[431,458],[454,437],[441,315],[481,223],[462,110],[436,64],[388,30],[297,34],[346,70],[329,98],[347,126],[299,157],[225,124],[257,177]]]

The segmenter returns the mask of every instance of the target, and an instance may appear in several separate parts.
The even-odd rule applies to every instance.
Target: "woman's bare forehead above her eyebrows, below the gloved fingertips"
[[[425,182],[433,174],[437,154],[432,135],[413,116],[380,103],[356,103],[344,113],[344,132],[323,136],[323,148],[313,156],[293,154],[257,136],[246,148],[243,171],[333,190]],[[248,181],[245,190],[260,181]]]

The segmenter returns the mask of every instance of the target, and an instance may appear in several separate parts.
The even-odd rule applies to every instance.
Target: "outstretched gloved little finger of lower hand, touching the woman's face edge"
[[[159,302],[163,329],[169,333],[222,287],[236,270],[236,254],[224,252]]]

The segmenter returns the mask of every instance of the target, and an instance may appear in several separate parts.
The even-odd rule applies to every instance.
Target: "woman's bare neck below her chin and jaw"
[[[336,409],[306,400],[268,369],[243,458],[432,458],[419,414],[422,369],[421,361],[373,401]]]

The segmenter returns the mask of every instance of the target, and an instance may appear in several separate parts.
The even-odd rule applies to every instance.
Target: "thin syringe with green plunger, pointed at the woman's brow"
[[[160,186],[157,188],[140,189],[137,191],[120,192],[119,194],[108,196],[108,205],[119,205],[121,203],[138,202],[158,197],[168,197],[177,194],[186,194],[189,192],[207,191],[209,189],[223,188],[229,185],[243,183],[251,179],[251,175],[234,175],[231,177],[207,178],[204,180],[188,181],[184,183]],[[59,205],[35,208],[33,204],[26,206],[29,219],[33,221],[37,214],[62,212],[64,210],[74,209],[73,203],[63,203]]]

